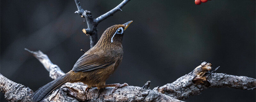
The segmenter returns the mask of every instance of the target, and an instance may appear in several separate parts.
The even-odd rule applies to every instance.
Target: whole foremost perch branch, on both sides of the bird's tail
[[[5,93],[9,102],[33,102],[34,92],[22,84],[17,84],[0,74],[0,91]],[[100,101],[136,101],[136,102],[183,102],[165,94],[137,86],[125,86],[112,93],[113,87],[98,90],[92,88],[85,92],[86,85],[81,83],[66,83],[60,89],[53,91],[43,102],[100,102]],[[112,95],[111,95],[112,93]]]

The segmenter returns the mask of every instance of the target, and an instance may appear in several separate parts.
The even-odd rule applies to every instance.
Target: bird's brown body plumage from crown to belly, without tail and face
[[[123,34],[115,35],[111,43],[111,37],[119,27],[124,25],[113,25],[105,30],[98,43],[77,60],[68,72],[70,82],[83,82],[88,87],[105,86],[106,80],[123,59]]]

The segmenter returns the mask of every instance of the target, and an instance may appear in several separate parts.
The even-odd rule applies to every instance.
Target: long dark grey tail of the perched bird
[[[65,84],[68,80],[66,79],[65,74],[57,79],[53,80],[52,82],[40,87],[33,95],[33,101],[38,102],[42,101],[45,97],[47,97],[52,91],[59,88],[61,85]]]

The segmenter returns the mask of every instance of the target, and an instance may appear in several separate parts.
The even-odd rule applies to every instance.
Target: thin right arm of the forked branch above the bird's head
[[[116,13],[117,11],[122,11],[121,9],[124,7],[125,4],[127,4],[130,0],[124,0],[122,3],[120,3],[119,5],[117,5],[114,9],[108,11],[107,13],[101,15],[100,17],[96,18],[96,24],[99,24],[101,21],[103,21],[104,19],[107,19],[110,16],[113,16],[114,13]]]

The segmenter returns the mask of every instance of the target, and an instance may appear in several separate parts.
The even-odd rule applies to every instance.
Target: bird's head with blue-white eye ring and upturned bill
[[[132,21],[129,21],[122,25],[112,25],[108,29],[104,31],[104,33],[101,35],[100,40],[98,43],[105,43],[105,44],[122,44],[124,31],[126,28],[132,23]],[[100,44],[100,45],[101,45]]]

